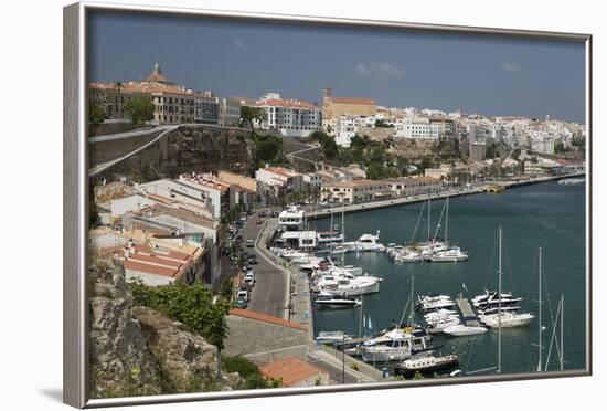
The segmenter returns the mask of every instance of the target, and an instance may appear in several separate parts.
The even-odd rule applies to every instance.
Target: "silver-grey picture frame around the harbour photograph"
[[[509,373],[491,377],[456,377],[439,381],[412,380],[333,387],[280,388],[267,390],[224,391],[212,393],[189,393],[135,398],[89,399],[87,389],[88,360],[88,303],[87,303],[87,232],[88,232],[88,177],[87,177],[87,19],[90,12],[111,11],[117,13],[213,17],[231,20],[297,22],[300,24],[388,28],[457,34],[499,35],[537,40],[567,40],[585,44],[586,50],[586,368],[583,370],[534,373]],[[121,6],[99,2],[78,2],[64,8],[64,172],[63,172],[63,400],[76,408],[171,403],[185,401],[209,401],[267,396],[292,396],[305,393],[341,392],[349,390],[377,390],[443,386],[459,383],[531,380],[545,378],[590,376],[593,368],[592,334],[592,141],[593,141],[593,36],[582,33],[545,32],[533,30],[509,30],[482,27],[455,27],[413,22],[352,20],[327,17],[289,15],[221,10],[163,8],[148,6]]]

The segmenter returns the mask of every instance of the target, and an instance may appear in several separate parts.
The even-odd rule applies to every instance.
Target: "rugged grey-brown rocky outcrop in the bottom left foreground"
[[[90,268],[89,309],[92,398],[231,390],[243,382],[221,371],[217,348],[204,338],[134,306],[118,264]]]

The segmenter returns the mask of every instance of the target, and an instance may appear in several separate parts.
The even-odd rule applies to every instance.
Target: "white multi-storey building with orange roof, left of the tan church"
[[[265,113],[260,127],[278,130],[288,137],[307,137],[322,127],[319,106],[299,99],[283,99],[278,93],[268,93],[255,104]]]

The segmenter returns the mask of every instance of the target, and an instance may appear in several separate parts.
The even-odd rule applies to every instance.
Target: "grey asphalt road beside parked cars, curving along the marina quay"
[[[248,218],[247,222],[241,230],[244,242],[246,240],[257,240],[263,225],[257,225],[257,214]],[[259,244],[259,246],[265,246]],[[248,309],[271,315],[274,317],[286,318],[288,315],[285,304],[285,293],[287,289],[287,276],[280,270],[270,264],[264,255],[258,255],[254,247],[246,247],[245,251],[249,255],[256,255],[258,263],[255,268],[255,287],[248,303]]]

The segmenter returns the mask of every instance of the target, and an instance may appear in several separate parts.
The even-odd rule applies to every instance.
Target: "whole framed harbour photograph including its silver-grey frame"
[[[592,36],[64,9],[64,401],[588,376]]]

